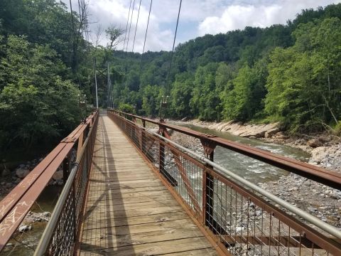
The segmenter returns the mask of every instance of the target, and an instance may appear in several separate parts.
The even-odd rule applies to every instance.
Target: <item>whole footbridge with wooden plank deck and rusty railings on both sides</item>
[[[205,156],[173,142],[171,130],[200,139]],[[339,174],[269,151],[95,111],[0,202],[0,250],[63,166],[34,255],[341,255],[340,229],[216,164],[216,146],[341,187]]]

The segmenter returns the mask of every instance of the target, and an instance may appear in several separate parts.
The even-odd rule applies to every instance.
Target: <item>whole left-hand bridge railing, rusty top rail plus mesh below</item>
[[[93,112],[85,122],[80,124],[73,132],[63,139],[43,161],[33,169],[11,193],[0,202],[0,251],[4,249],[13,233],[25,218],[28,211],[37,200],[45,186],[48,185],[55,171],[63,166],[65,186],[59,198],[60,204],[65,189],[68,190],[67,198],[63,203],[62,211],[58,218],[58,226],[53,230],[53,239],[49,241],[51,252],[58,242],[58,249],[72,250],[75,239],[70,238],[70,233],[77,231],[77,221],[82,208],[82,198],[85,194],[87,171],[90,169],[94,139],[96,136],[98,112]],[[75,156],[72,156],[75,154]],[[75,161],[75,159],[77,159]],[[75,174],[75,169],[77,169]],[[51,217],[51,220],[53,217]],[[65,251],[66,252],[66,251]],[[69,255],[67,253],[61,255]]]

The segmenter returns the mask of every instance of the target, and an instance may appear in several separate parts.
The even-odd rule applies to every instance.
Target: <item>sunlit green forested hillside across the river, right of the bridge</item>
[[[341,119],[340,18],[337,4],[303,10],[286,26],[195,38],[175,49],[169,85],[171,53],[141,58],[115,51],[111,61],[123,77],[114,86],[115,105],[156,116],[161,97],[170,95],[168,117],[279,121],[293,132],[335,128]]]

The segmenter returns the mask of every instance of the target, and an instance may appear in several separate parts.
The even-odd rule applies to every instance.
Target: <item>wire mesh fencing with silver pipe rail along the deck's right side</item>
[[[179,147],[111,114],[194,218],[231,255],[341,255],[340,240]],[[163,127],[159,128],[162,134]]]

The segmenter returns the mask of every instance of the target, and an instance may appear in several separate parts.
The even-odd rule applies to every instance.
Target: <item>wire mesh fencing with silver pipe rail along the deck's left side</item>
[[[55,204],[34,256],[72,255],[75,250],[77,238],[80,235],[79,223],[85,203],[97,122],[98,118],[90,127],[87,139],[85,139],[82,150],[77,156],[63,191]],[[67,231],[65,232],[65,230]]]

